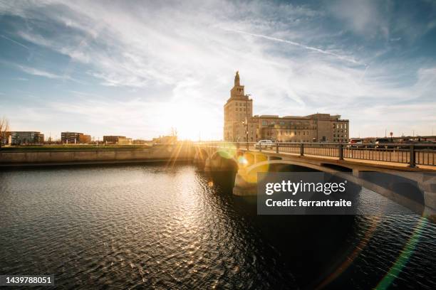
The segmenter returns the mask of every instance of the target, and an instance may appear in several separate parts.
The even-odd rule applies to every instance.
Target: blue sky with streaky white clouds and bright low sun
[[[222,139],[237,70],[254,114],[436,133],[436,1],[0,0],[14,131]]]

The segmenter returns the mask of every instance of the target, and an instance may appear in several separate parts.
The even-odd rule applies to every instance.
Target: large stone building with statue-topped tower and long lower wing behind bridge
[[[348,142],[348,136],[349,122],[340,115],[253,116],[253,100],[245,95],[236,73],[230,98],[224,104],[224,141]]]

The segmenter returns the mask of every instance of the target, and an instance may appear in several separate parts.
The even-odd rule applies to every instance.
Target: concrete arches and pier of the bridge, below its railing
[[[234,183],[235,195],[256,194],[256,190],[249,192],[247,188],[255,187],[257,172],[268,172],[269,166],[274,164],[294,165],[326,173],[343,174],[344,178],[350,178],[353,183],[358,182],[356,184],[361,184],[361,186],[380,193],[408,208],[410,208],[407,205],[408,200],[410,200],[410,195],[413,195],[415,200],[417,200],[416,205],[422,207],[422,202],[425,204],[423,213],[426,213],[427,216],[436,217],[436,176],[434,174],[435,171],[431,169],[401,168],[400,166],[390,164],[374,164],[360,160],[316,158],[313,156],[299,156],[297,154],[276,154],[272,151],[246,151],[237,148],[237,146],[224,146],[221,148],[232,155],[231,159],[227,159],[222,158],[222,156],[218,158],[219,146],[206,144],[198,147],[196,159],[205,159],[205,169],[207,169],[209,161],[209,165],[213,165],[209,166],[209,168],[217,168],[218,171],[223,168],[223,163],[232,165],[224,166],[224,168],[236,168],[238,170]],[[212,157],[212,159],[209,157]],[[346,172],[351,171],[353,174],[346,174]],[[365,172],[388,173],[393,176],[400,176],[405,178],[405,183],[408,185],[405,186],[405,183],[400,182],[391,188],[393,190],[389,190],[371,181],[365,181],[365,178],[362,178]],[[403,196],[395,193],[395,190],[404,188],[408,188],[406,191],[413,194],[409,194],[409,196],[405,194]],[[400,196],[399,200],[395,200],[398,196]],[[404,200],[406,201],[403,202]],[[417,210],[414,211],[417,212]]]

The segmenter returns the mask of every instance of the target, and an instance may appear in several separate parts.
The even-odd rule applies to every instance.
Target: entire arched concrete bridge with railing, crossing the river
[[[350,147],[327,143],[195,144],[194,161],[205,171],[234,171],[234,195],[256,195],[257,173],[277,166],[294,166],[293,171],[334,173],[436,219],[436,148],[428,144],[374,144]],[[277,170],[276,168],[274,170]],[[288,169],[289,170],[289,169]],[[378,178],[373,178],[379,173]],[[389,178],[388,178],[389,177]],[[383,180],[392,180],[387,184]]]

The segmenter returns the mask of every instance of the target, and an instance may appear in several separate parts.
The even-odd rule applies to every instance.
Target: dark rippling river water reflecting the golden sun
[[[436,289],[436,227],[420,216],[259,216],[224,180],[191,164],[0,171],[0,274],[54,274],[56,289]]]

